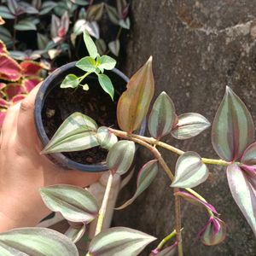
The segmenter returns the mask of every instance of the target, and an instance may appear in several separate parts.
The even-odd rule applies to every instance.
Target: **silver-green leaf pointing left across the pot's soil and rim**
[[[99,145],[96,138],[97,125],[83,113],[71,114],[55,132],[42,154],[72,152]]]

